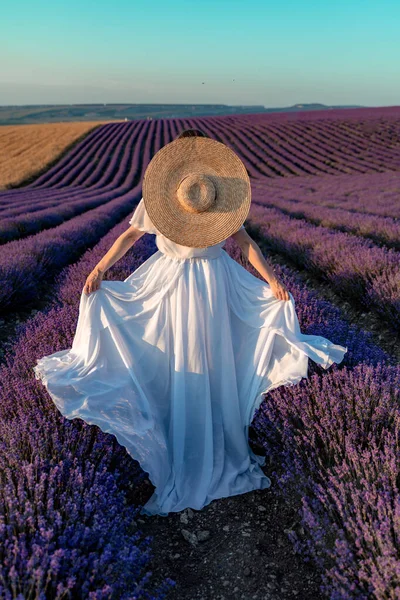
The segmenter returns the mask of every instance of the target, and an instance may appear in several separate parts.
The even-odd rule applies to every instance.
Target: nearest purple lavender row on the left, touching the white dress
[[[88,273],[127,227],[114,227],[57,279],[56,301],[17,332],[0,367],[0,595],[158,599],[152,538],[137,529],[145,480],[115,437],[60,415],[34,377],[36,360],[71,347]],[[124,279],[156,250],[150,236],[107,273]]]

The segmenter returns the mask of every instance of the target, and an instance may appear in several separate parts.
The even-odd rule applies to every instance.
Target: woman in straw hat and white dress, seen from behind
[[[301,333],[292,294],[244,228],[250,202],[224,144],[187,130],[164,146],[130,227],[87,277],[72,348],[34,367],[66,418],[114,434],[148,472],[143,514],[269,487],[248,441],[263,395],[306,377],[309,358],[327,369],[347,351]],[[145,232],[158,251],[103,281]],[[267,284],[223,250],[230,236]]]

